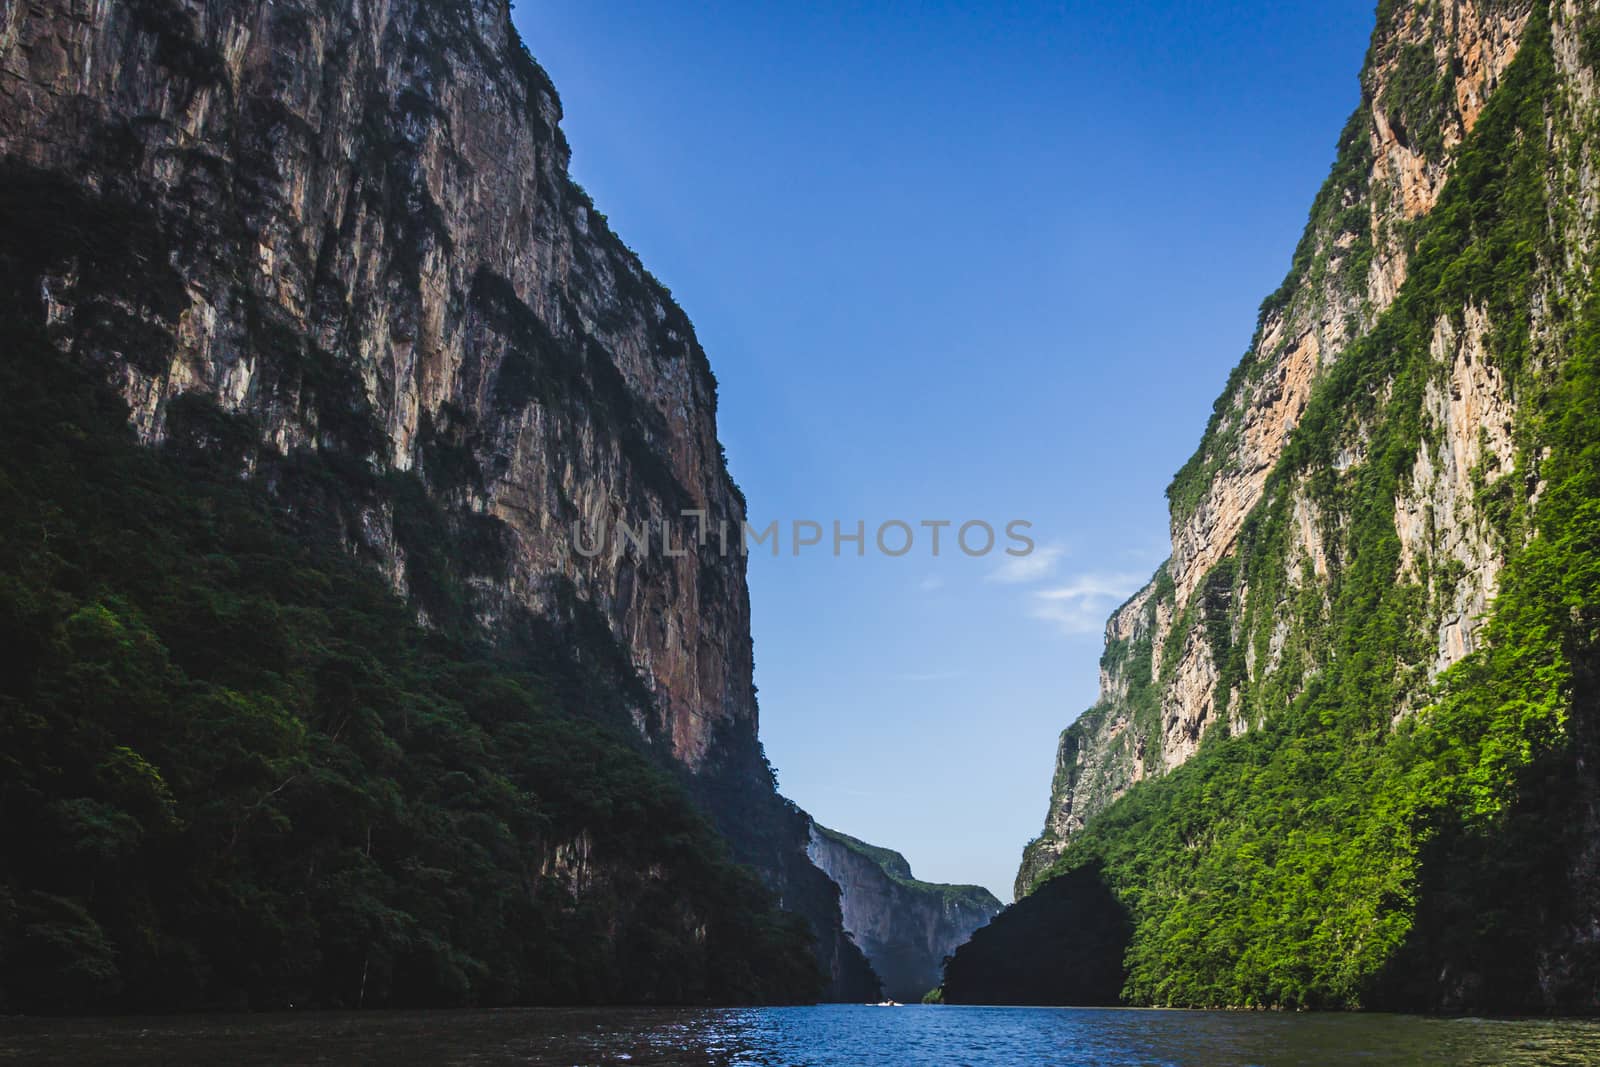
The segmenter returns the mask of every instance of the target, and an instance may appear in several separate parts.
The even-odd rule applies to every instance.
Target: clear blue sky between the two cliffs
[[[573,174],[722,382],[757,525],[1034,523],[1030,566],[750,561],[789,797],[1003,901],[1107,613],[1288,267],[1371,0],[523,0]]]

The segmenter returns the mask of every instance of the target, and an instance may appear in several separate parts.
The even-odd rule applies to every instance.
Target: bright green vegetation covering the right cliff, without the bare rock
[[[1051,872],[1094,872],[1128,909],[1126,1000],[1594,1009],[1600,958],[1571,931],[1595,909],[1582,840],[1600,830],[1600,294],[1563,251],[1576,221],[1560,182],[1581,160],[1550,149],[1549,123],[1573,122],[1562,101],[1536,8],[1414,229],[1400,296],[1318,382],[1235,558],[1174,625],[1203,627],[1254,728],[1213,728],[1197,757],[1091,819]],[[1554,293],[1586,296],[1544,301],[1536,336],[1533,294],[1552,277]],[[1435,325],[1459,328],[1474,307],[1520,406],[1517,469],[1475,475],[1509,563],[1485,645],[1429,689],[1430,605],[1458,576],[1426,561],[1402,573],[1395,498],[1418,451],[1437,448],[1422,405],[1443,373]],[[1339,472],[1349,450],[1362,461]],[[1189,477],[1208,475],[1174,482],[1174,515],[1195,498]],[[1325,581],[1290,553],[1294,491],[1338,518]],[[1242,611],[1222,603],[1240,582]],[[1130,675],[1136,707],[1146,673]],[[1058,920],[1018,907],[990,936],[1022,944]]]

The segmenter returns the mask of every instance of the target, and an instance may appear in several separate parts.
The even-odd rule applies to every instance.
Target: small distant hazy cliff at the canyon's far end
[[[1000,910],[982,886],[912,878],[899,853],[813,824],[811,861],[840,888],[845,929],[872,961],[891,1000],[922,1000],[941,984],[944,958]]]

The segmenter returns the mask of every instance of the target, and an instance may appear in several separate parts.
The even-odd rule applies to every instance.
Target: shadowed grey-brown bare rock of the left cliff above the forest
[[[27,280],[56,347],[104,370],[147,442],[202,394],[278,453],[376,482],[333,493],[350,549],[426,624],[494,637],[538,617],[603,673],[598,633],[648,745],[726,801],[736,846],[768,843],[741,856],[813,918],[835,977],[859,976],[760,760],[744,560],[717,536],[744,498],[715,379],[568,178],[560,117],[506,0],[0,10],[6,179],[157,218],[139,277],[106,277],[78,235]],[[408,530],[416,494],[448,515],[446,544]],[[594,545],[619,523],[648,550],[574,550],[574,525]]]

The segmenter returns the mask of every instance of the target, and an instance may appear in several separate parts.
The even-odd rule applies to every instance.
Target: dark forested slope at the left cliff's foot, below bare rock
[[[0,1005],[816,997],[803,920],[581,691],[419,629],[262,485],[326,461],[242,478],[203,403],[139,448],[6,333]]]

